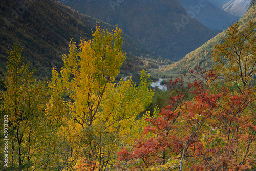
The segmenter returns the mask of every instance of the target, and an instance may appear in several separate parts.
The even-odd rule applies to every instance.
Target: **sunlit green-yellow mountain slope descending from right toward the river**
[[[241,23],[240,28],[248,25],[248,21],[251,20],[256,23],[256,3],[253,0],[252,5],[246,14],[239,20]],[[252,4],[253,4],[252,3]],[[175,62],[171,65],[162,66],[159,70],[151,72],[151,75],[156,75],[162,78],[172,78],[180,73],[188,73],[200,66],[202,68],[210,69],[214,65],[214,61],[211,58],[211,51],[214,45],[218,45],[222,42],[222,38],[226,36],[225,31],[218,34],[214,38],[210,39],[203,46],[197,48],[193,52],[188,53],[183,59]]]

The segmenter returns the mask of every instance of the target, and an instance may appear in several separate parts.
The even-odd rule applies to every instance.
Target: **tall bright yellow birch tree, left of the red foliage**
[[[70,42],[60,73],[53,69],[47,112],[65,118],[59,132],[63,170],[113,170],[118,149],[138,136],[135,128],[144,123],[135,117],[153,96],[146,72],[138,86],[131,79],[114,83],[126,58],[121,32],[96,26],[92,40],[81,40],[79,48]],[[53,110],[55,104],[62,109]]]

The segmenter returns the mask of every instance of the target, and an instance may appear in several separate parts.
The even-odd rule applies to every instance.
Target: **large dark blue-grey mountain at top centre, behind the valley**
[[[179,60],[220,31],[187,16],[177,0],[65,0],[63,4],[111,25],[118,24],[147,50]]]

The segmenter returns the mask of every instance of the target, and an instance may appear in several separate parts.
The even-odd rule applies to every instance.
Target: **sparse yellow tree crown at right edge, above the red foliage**
[[[226,81],[236,84],[241,92],[256,73],[255,28],[254,22],[249,22],[246,28],[235,23],[227,29],[225,41],[212,51],[215,70]]]

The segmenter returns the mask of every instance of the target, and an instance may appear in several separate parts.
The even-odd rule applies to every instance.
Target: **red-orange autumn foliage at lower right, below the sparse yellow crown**
[[[255,162],[253,89],[233,92],[216,82],[213,70],[198,68],[190,74],[188,85],[183,78],[170,80],[169,104],[147,119],[143,137],[131,149],[119,152],[123,165],[136,170],[244,170]]]

